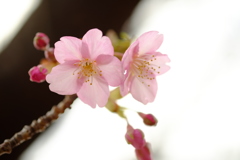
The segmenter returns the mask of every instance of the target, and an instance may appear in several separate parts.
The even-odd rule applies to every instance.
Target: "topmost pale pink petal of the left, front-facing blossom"
[[[87,44],[88,51],[92,60],[95,60],[98,55],[113,55],[114,50],[110,39],[106,36],[102,37],[102,32],[99,29],[89,30],[82,39],[83,43]]]

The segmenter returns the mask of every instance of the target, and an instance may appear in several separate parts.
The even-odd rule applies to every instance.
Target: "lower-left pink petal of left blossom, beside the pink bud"
[[[74,62],[63,63],[53,67],[46,77],[47,82],[50,83],[49,88],[51,91],[61,95],[77,93],[81,88],[83,80],[78,79],[78,74],[75,73],[77,68],[73,64]]]

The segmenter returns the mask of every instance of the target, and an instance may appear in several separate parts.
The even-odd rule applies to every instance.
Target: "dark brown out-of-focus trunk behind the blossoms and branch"
[[[46,82],[37,84],[29,80],[28,70],[38,65],[44,57],[42,51],[33,47],[35,34],[46,33],[53,46],[61,36],[82,37],[91,28],[99,28],[104,34],[108,29],[120,32],[138,2],[139,0],[42,1],[0,54],[0,143],[20,131],[24,125],[44,115],[63,98],[50,92]],[[10,155],[1,156],[0,160],[18,159],[32,141],[33,139],[16,147]]]

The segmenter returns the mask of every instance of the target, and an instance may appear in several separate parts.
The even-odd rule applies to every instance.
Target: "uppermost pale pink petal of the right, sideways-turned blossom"
[[[139,43],[139,54],[156,51],[163,42],[163,35],[157,31],[150,31],[142,34],[136,41]]]

